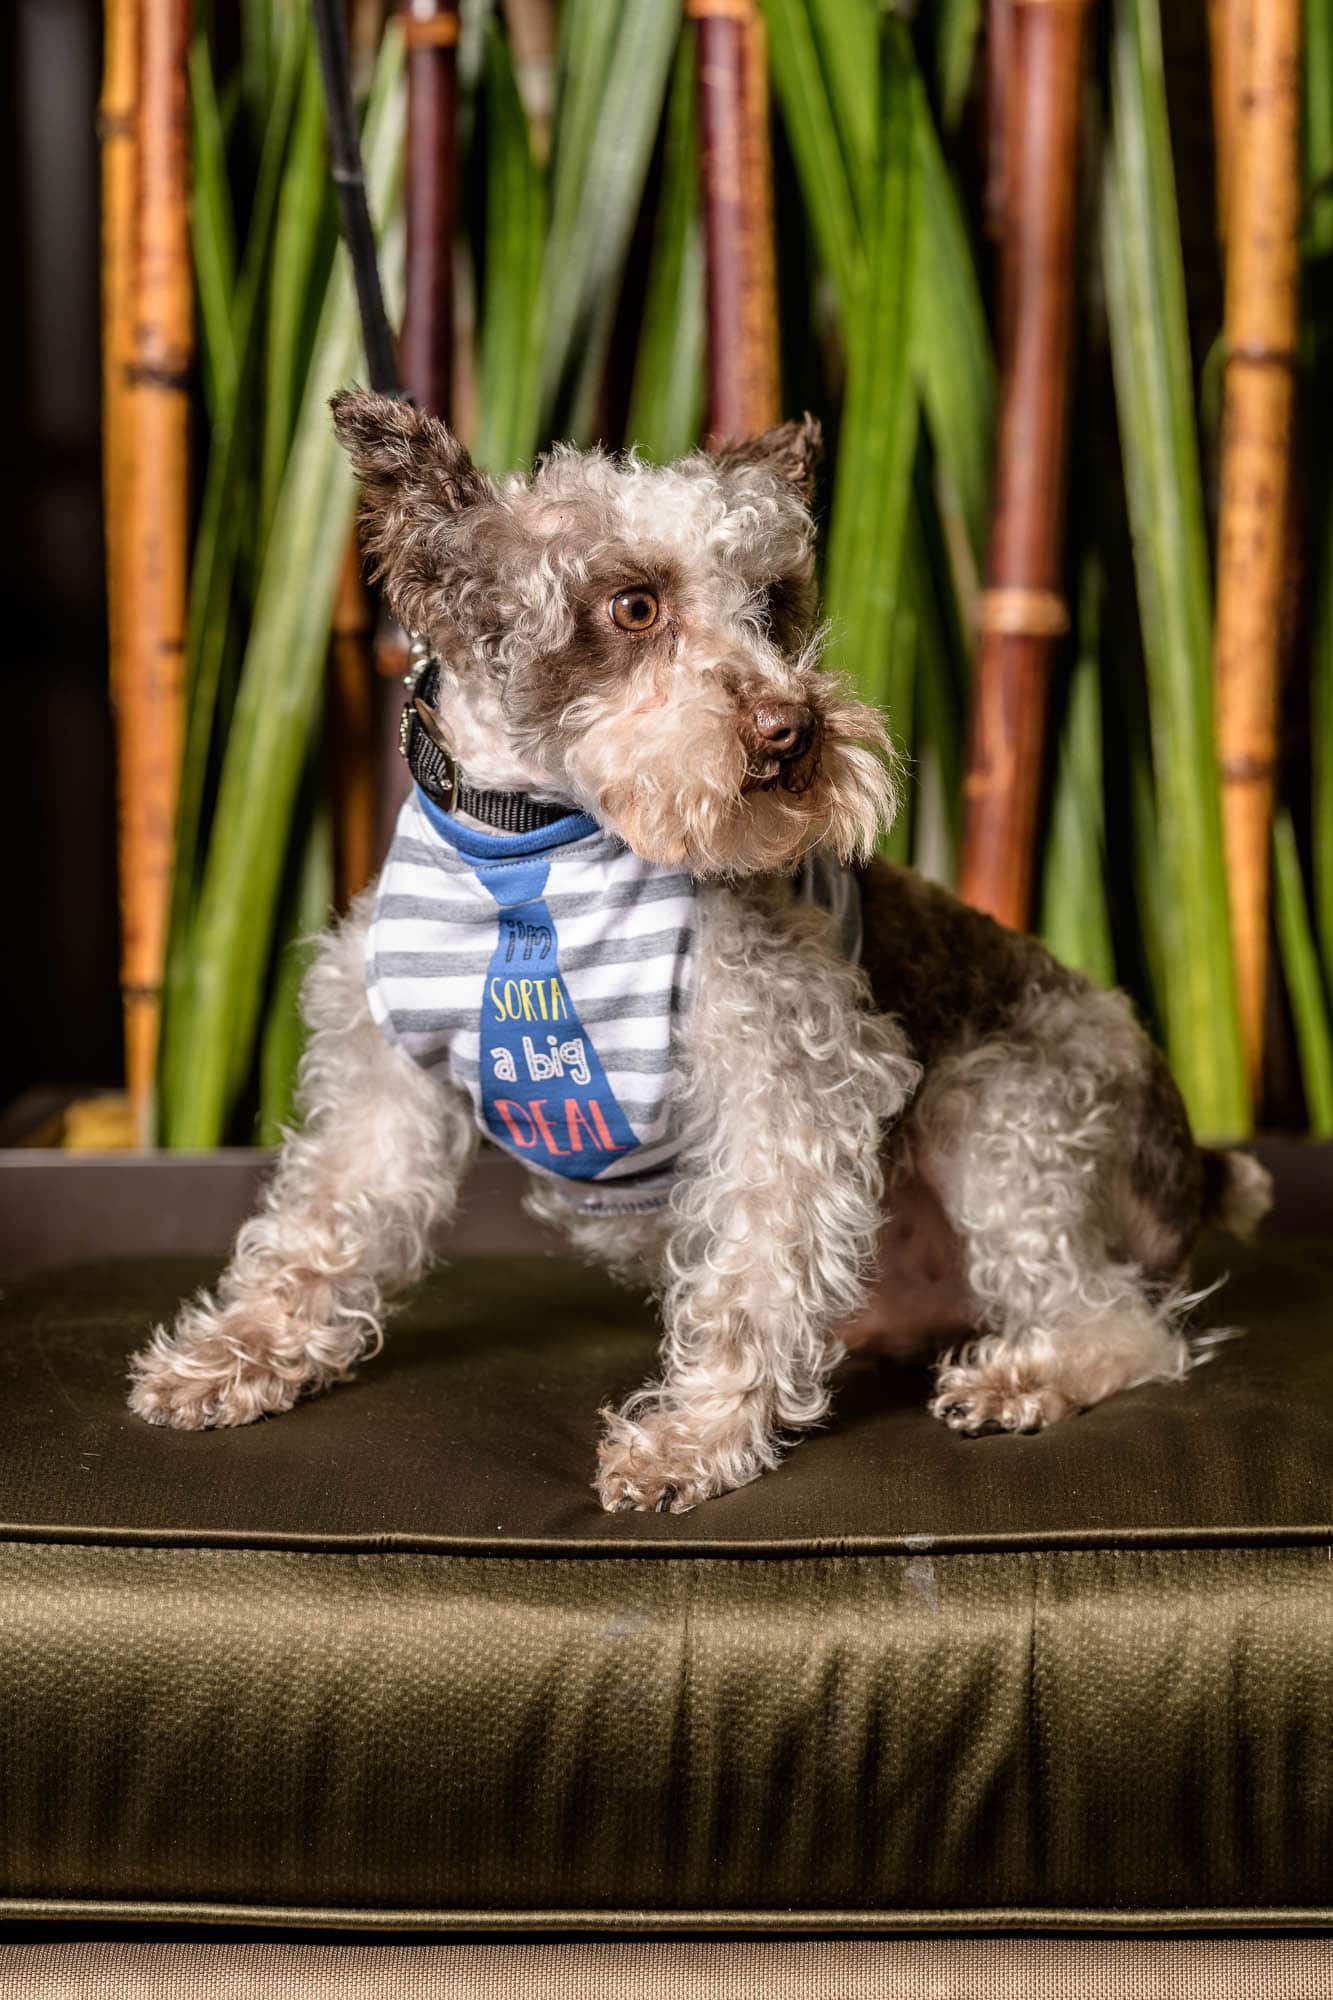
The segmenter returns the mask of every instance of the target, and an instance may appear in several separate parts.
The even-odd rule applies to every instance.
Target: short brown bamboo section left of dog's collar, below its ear
[[[328,642],[328,778],[334,902],[346,910],[378,862],[374,620],[360,576],[360,540],[348,538]]]

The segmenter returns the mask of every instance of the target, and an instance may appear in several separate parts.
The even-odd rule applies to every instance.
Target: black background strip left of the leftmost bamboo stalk
[[[98,442],[100,8],[0,8],[0,1108],[122,1074]]]

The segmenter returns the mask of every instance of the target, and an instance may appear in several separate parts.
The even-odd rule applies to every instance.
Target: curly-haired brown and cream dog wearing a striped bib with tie
[[[440,662],[418,786],[310,974],[304,1124],[134,1410],[248,1424],[346,1376],[478,1132],[584,1254],[652,1274],[660,1378],[604,1412],[608,1508],[691,1508],[821,1420],[885,1202],[961,1246],[951,1428],[1183,1376],[1193,1240],[1253,1222],[1265,1176],[1195,1148],[1123,996],[869,858],[893,768],[819,664],[817,426],[496,484],[402,404],[334,418]]]

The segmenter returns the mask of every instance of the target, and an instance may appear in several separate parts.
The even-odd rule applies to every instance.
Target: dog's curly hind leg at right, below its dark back
[[[1155,1202],[1135,1190],[1149,1114]],[[1199,1156],[1123,996],[1041,996],[1003,1036],[945,1058],[911,1136],[981,1312],[979,1336],[939,1368],[931,1410],[951,1430],[1041,1430],[1187,1372]]]

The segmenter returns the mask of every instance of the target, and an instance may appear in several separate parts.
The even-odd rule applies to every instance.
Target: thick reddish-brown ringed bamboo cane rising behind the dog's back
[[[1001,412],[965,780],[961,892],[1029,920],[1061,594],[1087,0],[1005,0]]]

